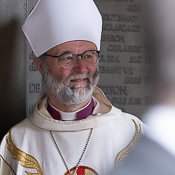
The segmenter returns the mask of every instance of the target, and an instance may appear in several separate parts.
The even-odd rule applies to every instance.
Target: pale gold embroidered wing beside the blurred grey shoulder
[[[135,125],[135,134],[132,140],[129,142],[129,144],[117,154],[115,159],[115,165],[119,164],[125,157],[127,157],[129,150],[133,147],[133,145],[136,143],[136,141],[142,134],[140,124],[138,128],[136,122],[133,119],[132,121],[134,122],[134,125]]]

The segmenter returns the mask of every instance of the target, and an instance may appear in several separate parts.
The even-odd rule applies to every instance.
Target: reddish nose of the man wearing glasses
[[[86,73],[87,72],[87,65],[84,63],[81,56],[77,57],[77,61],[75,66],[73,67],[75,73]]]

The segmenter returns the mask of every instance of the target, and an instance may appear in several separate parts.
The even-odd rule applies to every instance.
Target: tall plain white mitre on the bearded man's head
[[[74,40],[100,50],[102,18],[93,0],[39,0],[22,29],[37,57]]]

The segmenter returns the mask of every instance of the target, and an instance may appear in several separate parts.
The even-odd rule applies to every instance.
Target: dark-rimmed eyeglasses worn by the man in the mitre
[[[43,55],[57,58],[65,69],[72,69],[76,65],[79,56],[87,66],[95,65],[99,60],[99,53],[100,51],[97,50],[86,50],[82,54],[64,53],[59,56],[53,56],[44,53]]]

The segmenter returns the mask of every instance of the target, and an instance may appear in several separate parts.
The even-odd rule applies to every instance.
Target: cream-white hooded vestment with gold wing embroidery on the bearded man
[[[48,113],[46,95],[41,96],[33,114],[14,126],[2,140],[0,175],[66,174],[50,131],[71,169],[77,165],[91,128],[80,168],[87,175],[109,175],[146,126],[137,117],[112,106],[99,88],[93,93],[93,101],[93,114],[86,119],[59,121]]]

